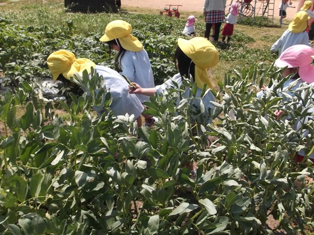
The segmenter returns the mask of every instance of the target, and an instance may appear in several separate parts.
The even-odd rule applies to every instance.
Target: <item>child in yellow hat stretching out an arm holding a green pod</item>
[[[215,101],[215,97],[210,91],[212,84],[209,80],[207,69],[214,67],[218,61],[218,51],[206,38],[195,37],[190,40],[179,38],[178,47],[175,51],[175,63],[179,73],[154,88],[142,88],[139,84],[133,83],[135,89],[130,85],[129,92],[131,94],[145,94],[149,96],[153,96],[155,93],[167,94],[169,89],[177,86],[178,88],[181,87],[183,77],[192,77],[197,85],[192,106],[201,109],[200,103],[202,102],[205,107],[205,123],[211,123],[211,115],[214,111],[211,101]],[[202,96],[204,87],[207,91]],[[190,97],[191,94],[191,88],[187,89],[184,93],[184,98]],[[194,121],[198,122],[198,120]],[[190,165],[190,169],[193,170],[193,164]]]

